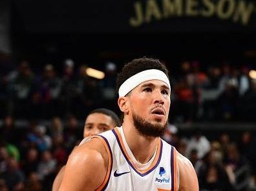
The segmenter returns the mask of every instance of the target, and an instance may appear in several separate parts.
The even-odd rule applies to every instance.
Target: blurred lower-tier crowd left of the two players
[[[74,116],[66,121],[54,117],[48,126],[32,120],[25,128],[6,116],[0,127],[0,190],[51,190],[82,138],[83,126]]]

